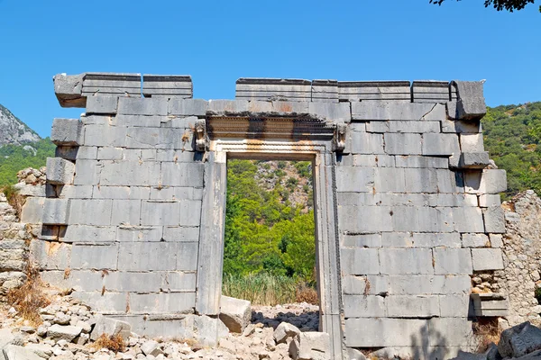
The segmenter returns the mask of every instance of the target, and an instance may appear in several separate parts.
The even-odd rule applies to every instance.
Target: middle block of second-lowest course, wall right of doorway
[[[385,298],[390,318],[432,318],[440,315],[437,295],[390,295]]]

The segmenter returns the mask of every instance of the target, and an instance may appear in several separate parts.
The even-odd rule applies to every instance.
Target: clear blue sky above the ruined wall
[[[483,0],[0,0],[0,103],[41,136],[62,109],[52,76],[191,75],[194,96],[234,98],[243,76],[480,80],[491,106],[541,100],[539,4]]]

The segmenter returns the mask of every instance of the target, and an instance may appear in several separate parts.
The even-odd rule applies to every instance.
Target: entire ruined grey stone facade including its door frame
[[[311,159],[320,323],[334,358],[346,347],[446,357],[471,345],[471,276],[502,268],[492,239],[505,231],[481,83],[245,78],[236,100],[215,101],[192,99],[189,76],[54,83],[61,105],[86,112],[53,123],[33,249],[45,280],[140,334],[211,344],[225,159]]]

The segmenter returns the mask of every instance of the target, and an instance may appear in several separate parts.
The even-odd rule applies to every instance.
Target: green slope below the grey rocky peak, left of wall
[[[33,149],[25,149],[28,146]],[[54,149],[55,146],[49,138],[24,145],[0,147],[0,186],[15,184],[17,172],[25,167],[45,166],[47,157],[54,157]]]

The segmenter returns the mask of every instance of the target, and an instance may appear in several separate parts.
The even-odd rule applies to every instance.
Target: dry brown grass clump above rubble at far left
[[[19,312],[24,320],[33,326],[41,324],[40,309],[50,304],[50,299],[41,290],[40,272],[29,261],[25,283],[7,293],[7,301]]]

